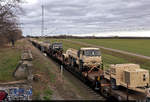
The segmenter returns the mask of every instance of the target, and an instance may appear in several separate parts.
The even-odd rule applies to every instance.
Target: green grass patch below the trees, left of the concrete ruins
[[[12,76],[19,63],[21,51],[12,48],[0,49],[0,82],[15,80]]]

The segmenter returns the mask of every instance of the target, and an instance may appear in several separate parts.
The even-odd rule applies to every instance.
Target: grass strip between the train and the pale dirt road
[[[42,39],[42,40],[45,40],[45,39]],[[65,51],[68,48],[79,49],[80,47],[87,47],[85,45],[66,41],[65,39],[46,39],[46,40],[49,40],[51,43],[52,42],[62,42],[63,48]],[[79,40],[79,39],[77,39],[77,40]],[[113,40],[113,39],[111,39],[111,40]],[[118,39],[118,40],[120,40],[120,39]],[[84,41],[84,39],[83,39],[83,41]],[[145,59],[141,59],[141,58],[137,58],[137,57],[133,57],[133,56],[122,55],[119,53],[114,53],[114,52],[110,52],[110,51],[106,51],[106,50],[102,50],[102,49],[101,49],[101,52],[102,52],[102,58],[103,58],[105,68],[108,68],[109,64],[137,63],[137,64],[140,64],[142,68],[150,70],[150,62]]]

